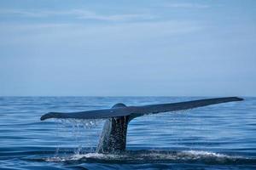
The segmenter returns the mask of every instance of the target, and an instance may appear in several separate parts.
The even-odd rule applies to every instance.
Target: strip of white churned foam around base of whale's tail
[[[189,161],[189,160],[209,160],[209,161],[226,161],[236,160],[241,158],[238,156],[228,156],[224,154],[218,154],[210,151],[201,150],[183,150],[178,152],[162,152],[160,150],[152,150],[149,152],[140,153],[123,153],[123,154],[99,154],[99,153],[87,153],[87,154],[74,154],[66,157],[53,157],[48,158],[45,161],[79,161],[86,159],[96,159],[104,161]]]

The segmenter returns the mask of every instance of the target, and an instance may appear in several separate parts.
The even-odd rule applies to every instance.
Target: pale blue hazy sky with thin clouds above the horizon
[[[256,1],[0,1],[0,95],[256,96],[255,87]]]

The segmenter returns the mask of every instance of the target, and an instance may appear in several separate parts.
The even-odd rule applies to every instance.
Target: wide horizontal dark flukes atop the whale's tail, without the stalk
[[[73,118],[73,119],[104,119],[119,116],[143,116],[147,114],[155,114],[166,111],[182,111],[202,107],[207,105],[216,105],[231,101],[241,101],[243,99],[237,97],[214,98],[214,99],[198,99],[193,101],[185,101],[171,104],[143,105],[143,106],[125,106],[114,107],[111,109],[95,110],[95,111],[78,111],[70,113],[49,112],[41,116],[41,121],[49,118]]]

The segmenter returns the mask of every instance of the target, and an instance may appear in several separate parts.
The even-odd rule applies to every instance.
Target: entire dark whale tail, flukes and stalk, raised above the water
[[[113,105],[111,109],[96,111],[79,111],[73,113],[49,112],[41,116],[41,121],[49,118],[73,118],[73,119],[105,119],[102,135],[96,151],[99,153],[118,152],[125,150],[126,133],[128,123],[138,117],[148,114],[156,114],[167,111],[182,111],[197,107],[216,105],[220,103],[241,101],[237,97],[198,99],[171,104],[126,106],[124,104]]]

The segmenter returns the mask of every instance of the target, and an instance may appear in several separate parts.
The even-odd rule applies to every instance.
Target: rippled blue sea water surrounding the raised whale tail
[[[130,122],[127,151],[96,154],[104,120],[46,120],[87,111],[178,102],[188,97],[1,97],[1,169],[256,169],[256,98]]]

